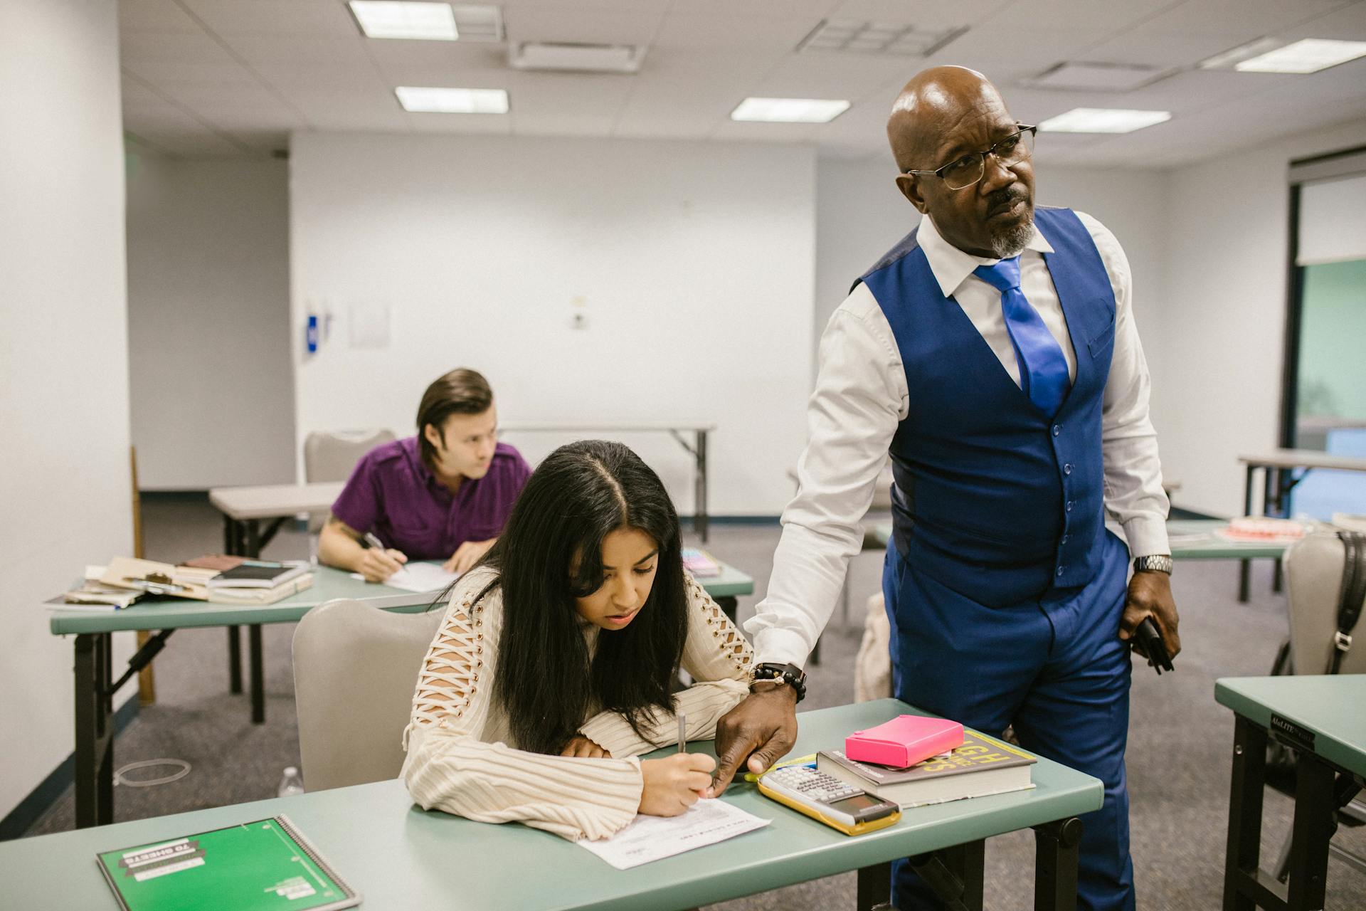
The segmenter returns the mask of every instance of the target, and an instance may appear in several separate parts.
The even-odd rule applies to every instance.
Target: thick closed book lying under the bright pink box
[[[859,788],[895,800],[903,810],[929,803],[947,803],[964,798],[1033,788],[1033,770],[1038,759],[977,731],[963,732],[963,746],[947,758],[933,758],[910,769],[855,762],[840,750],[818,753],[816,768]]]

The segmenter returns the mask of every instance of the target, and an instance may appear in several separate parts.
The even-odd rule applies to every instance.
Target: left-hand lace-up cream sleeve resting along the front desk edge
[[[566,839],[607,837],[635,818],[638,759],[552,757],[485,739],[507,729],[492,698],[503,601],[494,590],[474,602],[490,578],[456,586],[422,661],[404,732],[408,794],[423,810],[523,822]]]

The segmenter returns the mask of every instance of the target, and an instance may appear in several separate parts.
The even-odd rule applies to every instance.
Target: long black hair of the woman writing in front
[[[622,630],[600,631],[591,658],[575,597],[602,586],[602,539],[638,529],[658,545],[650,597]],[[594,699],[637,732],[673,710],[687,638],[678,514],[654,471],[627,447],[582,440],[552,452],[518,496],[482,564],[503,590],[494,697],[518,746],[559,753]]]

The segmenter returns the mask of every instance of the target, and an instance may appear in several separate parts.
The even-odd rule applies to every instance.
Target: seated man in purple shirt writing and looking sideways
[[[370,449],[355,466],[318,538],[328,565],[382,582],[408,560],[464,572],[493,546],[531,474],[497,441],[488,380],[452,370],[418,406],[418,436]],[[366,538],[382,546],[366,546]]]

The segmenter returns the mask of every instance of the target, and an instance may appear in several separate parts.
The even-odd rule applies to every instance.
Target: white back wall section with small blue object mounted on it
[[[791,497],[811,149],[296,134],[290,165],[301,440],[411,433],[426,384],[471,366],[504,421],[714,422],[713,514],[776,515]],[[332,321],[307,356],[310,309]],[[384,309],[388,347],[352,347],[355,314]],[[575,311],[587,328],[570,328]],[[567,437],[505,438],[535,462]],[[691,512],[691,458],[663,434],[622,438]]]

